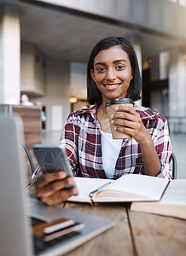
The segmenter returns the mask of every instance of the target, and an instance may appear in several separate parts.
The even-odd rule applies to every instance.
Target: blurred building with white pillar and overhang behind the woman
[[[131,40],[142,105],[186,132],[186,0],[0,0],[0,104],[26,94],[61,131],[86,106],[86,61],[102,38]]]

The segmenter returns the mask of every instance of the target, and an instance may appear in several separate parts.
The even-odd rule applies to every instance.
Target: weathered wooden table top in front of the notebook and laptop
[[[34,196],[34,189],[29,191]],[[186,256],[186,220],[132,212],[127,204],[61,204],[111,218],[115,225],[66,256]]]

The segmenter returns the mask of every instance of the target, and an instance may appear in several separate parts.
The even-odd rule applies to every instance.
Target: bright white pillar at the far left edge
[[[20,18],[11,4],[0,9],[0,103],[20,103]]]

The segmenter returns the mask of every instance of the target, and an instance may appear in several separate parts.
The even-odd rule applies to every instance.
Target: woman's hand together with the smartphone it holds
[[[77,195],[78,188],[65,148],[44,144],[35,144],[32,148],[41,168],[35,182],[40,200],[53,206]]]

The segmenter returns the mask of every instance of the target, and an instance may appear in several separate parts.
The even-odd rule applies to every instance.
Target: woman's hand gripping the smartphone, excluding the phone
[[[49,206],[67,201],[71,195],[78,194],[78,188],[74,187],[74,178],[67,177],[66,171],[39,173],[35,186],[41,201]],[[69,189],[67,189],[69,188]]]

